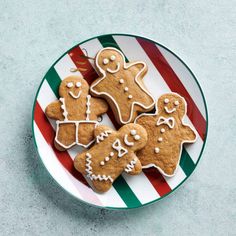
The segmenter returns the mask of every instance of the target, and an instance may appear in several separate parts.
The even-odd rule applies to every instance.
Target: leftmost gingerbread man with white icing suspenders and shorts
[[[63,151],[74,145],[88,147],[94,141],[97,118],[108,110],[103,99],[89,94],[89,85],[80,76],[69,76],[59,87],[60,99],[46,107],[46,115],[57,120],[55,147]]]

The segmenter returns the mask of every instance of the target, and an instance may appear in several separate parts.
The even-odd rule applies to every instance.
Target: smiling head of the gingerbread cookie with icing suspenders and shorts
[[[88,95],[89,85],[82,76],[69,76],[65,78],[59,88],[59,95],[75,100]]]

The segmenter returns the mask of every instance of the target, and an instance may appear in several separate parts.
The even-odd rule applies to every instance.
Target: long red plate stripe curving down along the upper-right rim
[[[136,38],[141,47],[144,49],[156,69],[161,74],[162,78],[165,80],[171,91],[179,93],[186,99],[188,104],[187,115],[197,132],[199,133],[202,140],[205,139],[206,132],[206,121],[202,116],[197,105],[193,101],[192,97],[182,84],[181,80],[178,78],[174,70],[171,68],[170,64],[164,58],[163,54],[157,48],[157,46],[142,38]]]

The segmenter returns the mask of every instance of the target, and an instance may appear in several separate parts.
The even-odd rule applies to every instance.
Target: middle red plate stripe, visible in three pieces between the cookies
[[[80,49],[80,47],[73,48],[69,53],[69,56],[73,60],[73,62],[76,64],[76,62],[84,62],[86,61],[86,64],[83,65],[83,69],[88,69],[88,73],[84,72],[83,70],[80,70],[80,65],[77,65],[77,68],[80,70],[80,73],[84,76],[84,78],[88,81],[89,84],[91,84],[95,79],[98,78],[97,72],[93,69],[91,66],[89,60],[85,58],[81,58],[80,55],[84,55],[83,51]],[[111,122],[115,126],[116,129],[120,128],[120,125],[117,124],[114,114],[112,113],[111,109],[107,112]],[[168,183],[165,181],[163,176],[159,173],[157,169],[153,169],[152,171],[145,171],[144,172],[147,178],[149,179],[150,183],[153,185],[157,193],[161,196],[165,195],[166,193],[171,191],[171,188],[169,187]]]

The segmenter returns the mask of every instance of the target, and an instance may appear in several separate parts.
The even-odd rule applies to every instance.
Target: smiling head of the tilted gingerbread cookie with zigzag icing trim
[[[127,124],[119,130],[124,147],[137,151],[147,143],[147,132],[138,124]]]

